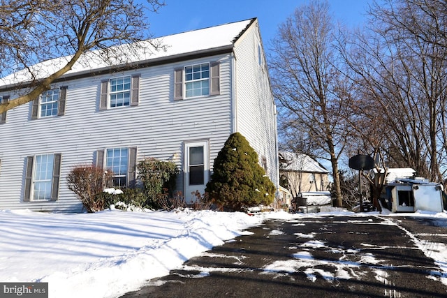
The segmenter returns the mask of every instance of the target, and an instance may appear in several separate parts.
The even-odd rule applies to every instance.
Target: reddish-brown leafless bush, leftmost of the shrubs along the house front
[[[94,165],[78,165],[68,173],[67,186],[73,191],[87,212],[101,211],[107,207],[103,189],[112,183],[113,173]]]

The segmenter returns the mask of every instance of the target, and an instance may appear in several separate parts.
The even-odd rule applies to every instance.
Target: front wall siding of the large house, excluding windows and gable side
[[[66,175],[75,165],[95,163],[100,149],[137,147],[138,161],[155,157],[174,161],[183,169],[185,142],[206,140],[212,167],[233,127],[232,59],[223,54],[68,80],[54,85],[67,87],[63,116],[31,120],[32,103],[8,111],[6,123],[0,124],[0,209],[81,211],[82,204],[68,190]],[[220,62],[220,94],[174,100],[175,69],[212,61]],[[101,82],[119,75],[140,75],[139,104],[100,110]],[[58,200],[24,202],[27,156],[56,153],[61,154]],[[177,190],[183,190],[182,175]]]

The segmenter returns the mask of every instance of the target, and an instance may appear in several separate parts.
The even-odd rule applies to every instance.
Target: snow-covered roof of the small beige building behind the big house
[[[292,152],[279,152],[279,170],[329,173],[320,163],[307,154],[295,154]]]

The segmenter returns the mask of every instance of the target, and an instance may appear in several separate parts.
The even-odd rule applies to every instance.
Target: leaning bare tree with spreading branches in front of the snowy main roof
[[[151,37],[147,11],[163,5],[163,0],[1,1],[0,77],[8,77],[3,84],[27,89],[2,103],[0,113],[50,89],[87,52],[112,61],[141,47],[137,42]]]

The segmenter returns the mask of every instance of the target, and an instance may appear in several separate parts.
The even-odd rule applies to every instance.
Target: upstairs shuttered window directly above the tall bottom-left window
[[[57,87],[43,92],[33,100],[31,119],[64,115],[66,94],[67,87]]]

